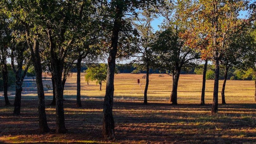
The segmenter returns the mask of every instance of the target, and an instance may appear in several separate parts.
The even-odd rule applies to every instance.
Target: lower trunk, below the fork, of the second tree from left
[[[22,87],[21,85],[16,83],[16,88],[15,88],[15,99],[14,99],[14,111],[13,115],[14,116],[20,116],[21,113],[21,92],[22,92]]]

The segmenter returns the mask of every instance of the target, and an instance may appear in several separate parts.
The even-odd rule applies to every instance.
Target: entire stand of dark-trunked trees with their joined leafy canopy
[[[250,70],[253,77],[256,73],[255,5],[248,0],[2,0],[0,61],[5,100],[8,99],[10,63],[16,88],[13,115],[19,116],[22,83],[32,66],[37,85],[39,128],[42,133],[49,132],[42,83],[42,72],[46,70],[53,84],[51,104],[56,108],[55,132],[66,133],[63,91],[72,66],[75,65],[77,71],[76,106],[81,107],[82,63],[90,65],[105,60],[107,66],[102,67],[106,72],[92,67],[88,75],[105,79],[101,76],[106,73],[102,135],[105,139],[114,139],[112,107],[117,61],[131,59],[131,63],[146,72],[144,104],[147,104],[150,69],[170,75],[173,81],[170,102],[177,104],[182,70],[198,65],[201,59],[205,61],[201,104],[205,104],[207,64],[212,61],[211,113],[216,114],[220,66],[225,67],[222,103],[225,103],[224,91],[231,67],[240,67],[244,72]],[[240,11],[244,10],[248,16],[240,18]],[[163,22],[155,31],[152,23],[158,18],[163,18]]]

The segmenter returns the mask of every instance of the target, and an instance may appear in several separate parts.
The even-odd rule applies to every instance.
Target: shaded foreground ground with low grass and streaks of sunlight
[[[211,116],[210,104],[116,100],[115,141],[101,138],[103,100],[83,100],[82,108],[66,100],[67,134],[38,133],[36,100],[22,100],[20,117],[3,105],[0,101],[0,143],[256,143],[255,104],[249,101],[219,105],[219,114]],[[54,129],[55,108],[47,106],[46,113]]]

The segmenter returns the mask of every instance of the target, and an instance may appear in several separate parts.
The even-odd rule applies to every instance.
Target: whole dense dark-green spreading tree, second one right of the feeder
[[[164,30],[158,32],[157,40],[154,44],[156,55],[158,56],[158,66],[168,75],[172,76],[172,92],[170,102],[177,104],[177,88],[179,76],[182,68],[190,67],[195,64],[195,59],[199,59],[199,53],[185,45],[181,33],[188,28],[188,15],[183,15],[183,11],[191,6],[190,1],[177,1],[175,14],[169,11],[163,12],[165,24],[162,26]],[[169,74],[169,72],[171,74]]]

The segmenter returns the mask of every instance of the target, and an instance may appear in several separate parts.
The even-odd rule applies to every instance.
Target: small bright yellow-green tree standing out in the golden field
[[[85,75],[86,80],[96,80],[97,84],[99,84],[99,91],[101,91],[102,82],[107,79],[107,65],[99,64],[96,66],[89,67],[86,70]]]

